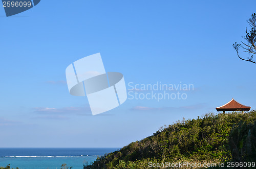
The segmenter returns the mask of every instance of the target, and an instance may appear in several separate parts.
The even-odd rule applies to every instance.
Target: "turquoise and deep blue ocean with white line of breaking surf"
[[[0,166],[10,164],[20,169],[60,169],[66,163],[72,169],[82,169],[98,156],[119,148],[0,148]]]

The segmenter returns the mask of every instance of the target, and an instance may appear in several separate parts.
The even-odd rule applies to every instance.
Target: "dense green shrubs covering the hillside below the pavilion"
[[[256,111],[207,113],[97,158],[88,168],[148,168],[148,162],[255,161]]]

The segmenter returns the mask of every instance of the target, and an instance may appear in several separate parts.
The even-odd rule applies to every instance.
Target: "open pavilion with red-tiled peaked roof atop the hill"
[[[225,111],[242,111],[242,113],[244,113],[244,111],[249,111],[250,109],[251,107],[242,105],[237,101],[235,101],[233,98],[231,101],[229,101],[225,105],[216,107],[217,111],[223,111],[223,113],[225,113]]]

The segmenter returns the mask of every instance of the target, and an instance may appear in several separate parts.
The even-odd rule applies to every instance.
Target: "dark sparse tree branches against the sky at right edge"
[[[256,64],[253,60],[253,55],[256,55],[256,13],[251,14],[251,18],[249,18],[247,22],[249,23],[250,30],[248,32],[246,28],[246,36],[242,36],[246,42],[242,41],[242,44],[234,42],[233,48],[237,51],[237,55],[240,59]],[[240,47],[245,50],[243,52],[247,52],[249,54],[249,57],[241,57],[239,54]]]

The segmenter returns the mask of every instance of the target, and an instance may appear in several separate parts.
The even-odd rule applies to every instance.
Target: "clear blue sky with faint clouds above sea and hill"
[[[123,147],[232,98],[256,108],[256,65],[232,49],[255,1],[41,1],[1,20],[0,147]],[[193,84],[186,100],[126,100],[91,115],[65,69],[101,53],[134,84]],[[127,87],[128,88],[128,87]]]

